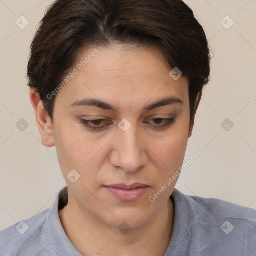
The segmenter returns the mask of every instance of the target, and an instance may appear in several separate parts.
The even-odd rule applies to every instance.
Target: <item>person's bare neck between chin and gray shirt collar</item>
[[[84,208],[68,192],[68,204],[59,210],[61,224],[82,255],[155,255],[163,256],[168,248],[174,219],[174,205],[169,199],[144,225],[120,231],[104,223]]]

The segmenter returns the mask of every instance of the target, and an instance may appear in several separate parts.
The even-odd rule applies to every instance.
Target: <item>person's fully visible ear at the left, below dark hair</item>
[[[45,110],[39,93],[30,88],[30,101],[35,111],[36,123],[41,134],[41,141],[45,146],[54,146],[53,129],[50,117]]]

